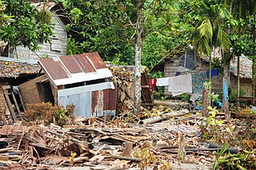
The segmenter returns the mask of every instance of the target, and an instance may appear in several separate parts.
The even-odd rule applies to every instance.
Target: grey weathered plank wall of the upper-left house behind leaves
[[[47,55],[49,57],[60,57],[66,55],[67,33],[65,26],[63,25],[61,19],[58,18],[57,14],[53,15],[53,19],[55,23],[54,37],[51,38],[51,44],[45,42],[39,44],[41,49],[39,51],[35,51],[35,53],[37,53],[40,57],[43,55]],[[23,46],[17,47],[18,59],[38,60],[39,58],[35,53]],[[11,53],[10,55],[12,57],[16,57],[16,53]]]

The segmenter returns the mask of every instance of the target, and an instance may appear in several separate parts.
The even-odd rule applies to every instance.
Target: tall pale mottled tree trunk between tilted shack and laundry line
[[[142,57],[142,32],[143,32],[143,14],[142,0],[136,1],[136,44],[135,44],[135,69],[134,69],[134,114],[141,111],[141,57]]]

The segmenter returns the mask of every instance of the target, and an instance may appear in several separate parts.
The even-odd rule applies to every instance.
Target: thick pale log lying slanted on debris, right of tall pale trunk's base
[[[183,109],[183,110],[176,111],[173,113],[163,113],[156,117],[150,117],[148,119],[142,120],[142,121],[140,121],[140,124],[149,125],[149,124],[156,123],[158,121],[163,121],[163,120],[169,119],[171,117],[181,117],[181,116],[186,115],[187,113],[190,113],[188,109]]]

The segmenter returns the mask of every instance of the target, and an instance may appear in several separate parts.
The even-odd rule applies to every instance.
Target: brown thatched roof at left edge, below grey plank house
[[[10,78],[21,75],[36,74],[40,70],[36,62],[15,60],[9,57],[0,57],[0,77]]]

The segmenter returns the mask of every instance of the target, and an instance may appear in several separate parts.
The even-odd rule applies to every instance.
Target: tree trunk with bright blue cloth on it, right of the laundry
[[[228,101],[228,88],[230,85],[230,54],[224,53],[223,57],[223,97],[222,97],[222,103],[223,103],[223,109],[225,113],[225,118],[230,118],[230,112],[229,112],[229,101]],[[225,89],[226,84],[226,89]]]

